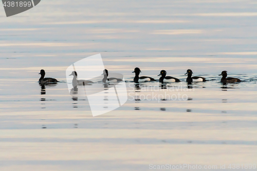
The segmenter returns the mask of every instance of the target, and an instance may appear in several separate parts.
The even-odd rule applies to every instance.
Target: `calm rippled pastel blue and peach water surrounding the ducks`
[[[239,0],[44,0],[12,17],[2,8],[0,169],[257,164],[256,7]],[[128,101],[92,117],[86,97],[70,96],[65,70],[98,53],[109,72],[124,75]],[[164,69],[182,82],[135,88],[135,67],[155,79]],[[209,81],[188,87],[189,68]],[[40,86],[41,69],[60,83]],[[221,84],[223,70],[243,82]],[[185,99],[167,98],[179,94]]]

